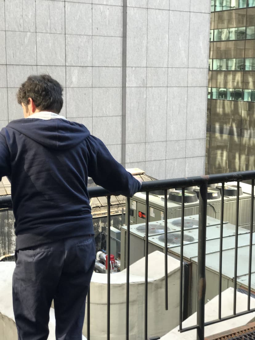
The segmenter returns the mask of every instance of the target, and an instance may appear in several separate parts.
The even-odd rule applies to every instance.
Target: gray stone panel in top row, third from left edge
[[[65,4],[63,1],[36,1],[36,31],[65,33]]]

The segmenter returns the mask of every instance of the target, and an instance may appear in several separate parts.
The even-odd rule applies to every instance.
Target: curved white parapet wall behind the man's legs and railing
[[[154,252],[148,259],[148,336],[166,334],[179,323],[180,261],[168,256],[168,300],[165,310],[164,254]],[[0,339],[16,340],[17,331],[12,307],[14,262],[0,262]],[[145,258],[130,266],[129,338],[144,339]],[[126,270],[111,274],[111,340],[125,339]],[[87,332],[87,317],[83,334]],[[49,338],[55,339],[54,310],[50,310]],[[90,339],[106,338],[107,275],[94,273],[90,284]],[[83,338],[85,339],[85,337]]]

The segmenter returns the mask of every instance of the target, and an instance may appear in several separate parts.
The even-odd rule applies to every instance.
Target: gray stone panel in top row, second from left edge
[[[5,29],[7,31],[35,32],[35,1],[5,1]]]

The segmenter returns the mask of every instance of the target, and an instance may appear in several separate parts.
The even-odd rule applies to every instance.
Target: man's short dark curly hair
[[[18,103],[28,105],[29,98],[33,99],[35,106],[40,110],[60,113],[63,106],[63,88],[48,74],[30,75],[21,84],[18,93]]]

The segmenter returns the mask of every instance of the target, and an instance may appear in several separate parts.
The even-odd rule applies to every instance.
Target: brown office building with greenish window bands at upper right
[[[206,173],[255,169],[255,0],[212,0]]]

